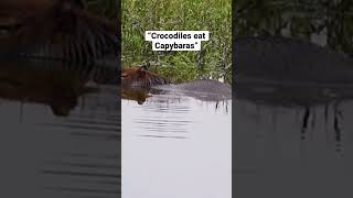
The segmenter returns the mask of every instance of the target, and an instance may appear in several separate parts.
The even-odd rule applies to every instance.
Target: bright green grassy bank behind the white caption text
[[[232,79],[231,0],[122,0],[122,65],[148,61],[174,81]],[[153,52],[147,30],[210,31],[200,52]]]

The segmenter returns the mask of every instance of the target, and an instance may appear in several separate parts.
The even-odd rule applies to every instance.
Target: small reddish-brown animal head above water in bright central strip
[[[165,84],[170,84],[170,80],[149,72],[146,64],[140,67],[124,68],[121,73],[122,87],[151,88]]]

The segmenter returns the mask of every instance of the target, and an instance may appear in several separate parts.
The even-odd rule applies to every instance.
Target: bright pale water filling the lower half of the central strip
[[[121,100],[122,197],[231,198],[232,102],[137,100]]]

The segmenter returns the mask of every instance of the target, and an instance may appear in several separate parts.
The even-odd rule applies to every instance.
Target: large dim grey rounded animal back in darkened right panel
[[[233,47],[238,100],[311,107],[353,98],[353,59],[343,53],[281,36],[238,36]]]

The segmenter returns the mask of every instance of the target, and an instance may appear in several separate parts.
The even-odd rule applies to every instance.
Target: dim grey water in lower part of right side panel
[[[350,89],[336,88],[325,100],[313,97],[318,87],[289,90],[300,106],[288,92],[267,92],[261,100],[244,94],[235,101],[235,196],[352,197]]]

